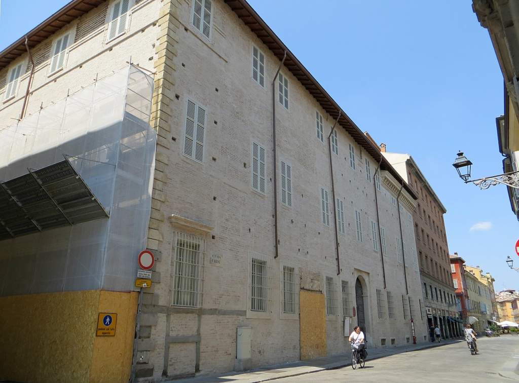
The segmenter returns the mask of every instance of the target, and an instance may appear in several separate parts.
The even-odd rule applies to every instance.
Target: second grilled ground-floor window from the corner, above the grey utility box
[[[250,263],[250,309],[252,311],[270,310],[270,267],[266,259],[253,257]]]

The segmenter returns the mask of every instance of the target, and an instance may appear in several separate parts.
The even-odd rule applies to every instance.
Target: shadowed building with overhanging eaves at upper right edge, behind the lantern
[[[518,171],[519,161],[519,30],[513,20],[519,8],[513,1],[472,0],[472,9],[488,29],[504,80],[504,115],[496,118],[504,173]],[[507,186],[512,212],[519,219],[519,190]]]

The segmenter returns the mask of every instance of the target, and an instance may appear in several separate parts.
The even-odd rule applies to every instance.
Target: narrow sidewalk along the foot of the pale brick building
[[[418,345],[405,345],[399,347],[388,347],[388,348],[373,348],[367,349],[367,360],[374,360],[378,358],[388,357],[389,355],[398,354],[401,352],[424,350],[432,347],[439,347],[443,345],[450,345],[465,341],[463,338],[455,340],[442,340],[441,343],[420,343]],[[369,346],[369,345],[368,345]],[[287,378],[290,376],[297,376],[303,374],[310,374],[314,372],[333,370],[334,368],[340,368],[350,365],[349,359],[351,353],[334,355],[333,357],[323,357],[305,361],[289,362],[283,364],[275,364],[260,368],[255,368],[243,373],[229,372],[221,375],[213,376],[199,376],[195,378],[168,380],[172,383],[207,383],[207,382],[228,382],[233,383],[255,383],[266,380],[274,380],[280,378]]]

